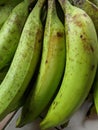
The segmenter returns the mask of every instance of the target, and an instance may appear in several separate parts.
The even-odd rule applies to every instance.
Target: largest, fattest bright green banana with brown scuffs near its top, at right
[[[65,6],[66,68],[56,98],[52,102],[42,129],[67,122],[86,99],[97,68],[98,39],[87,13],[63,0]]]

